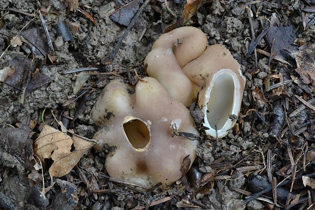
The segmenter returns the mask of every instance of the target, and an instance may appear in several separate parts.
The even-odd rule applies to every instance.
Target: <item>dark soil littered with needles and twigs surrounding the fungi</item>
[[[188,25],[199,27],[207,34],[209,44],[227,46],[241,64],[247,83],[236,126],[223,139],[203,137],[197,149],[197,160],[179,181],[170,187],[147,192],[139,191],[128,183],[115,182],[107,176],[104,166],[106,154],[114,149],[107,147],[103,152],[91,149],[69,174],[54,180],[55,185],[45,197],[41,196],[43,178],[45,188],[52,182],[48,173],[52,163],[47,161],[43,170],[38,169],[36,158],[27,159],[33,163],[33,167],[29,166],[25,157],[16,151],[28,151],[31,145],[25,142],[36,139],[44,123],[60,129],[52,111],[67,129],[92,138],[100,128],[90,121],[90,112],[103,87],[115,78],[123,77],[126,82],[135,84],[139,77],[145,76],[142,64],[146,54],[164,29],[181,16],[185,4],[185,1],[175,0],[150,1],[122,41],[111,63],[105,64],[102,61],[110,56],[127,28],[114,22],[110,14],[128,4],[128,1],[82,0],[79,1],[81,12],[69,10],[68,4],[72,2],[75,1],[0,0],[0,74],[3,69],[14,66],[15,58],[21,57],[41,63],[39,72],[53,78],[49,83],[36,86],[29,92],[26,87],[32,81],[28,78],[32,78],[33,72],[27,72],[26,79],[19,81],[22,85],[20,89],[0,82],[0,209],[197,207],[258,210],[275,209],[276,205],[279,208],[288,206],[288,209],[299,209],[302,205],[308,207],[315,203],[315,190],[309,186],[304,187],[301,179],[303,175],[312,176],[315,173],[315,110],[310,102],[315,88],[312,82],[305,83],[299,74],[301,71],[295,71],[297,66],[305,64],[303,57],[299,57],[296,62],[301,63],[297,65],[294,57],[275,53],[284,50],[292,54],[311,47],[315,39],[315,11],[312,7],[315,2],[311,0],[212,0],[204,4],[188,21]],[[141,7],[143,3],[139,2]],[[49,56],[40,52],[40,49],[47,49],[47,53],[51,53],[48,45],[36,49],[23,37],[23,32],[28,32],[33,33],[29,34],[33,37],[39,37],[37,39],[46,40],[39,10],[45,16],[54,48],[54,53]],[[62,31],[62,28],[58,23],[66,24],[70,32],[65,30],[65,34],[59,34],[58,31]],[[264,29],[278,27],[273,33],[282,33],[281,28],[287,26],[292,27],[295,33],[293,43],[281,40],[278,35],[272,39],[272,34],[269,34],[271,39],[268,43],[263,37],[255,44]],[[34,28],[36,30],[32,31]],[[22,44],[13,42],[9,46],[15,36],[21,39]],[[40,41],[35,43],[39,44]],[[253,50],[245,59],[247,51],[253,47],[263,52],[256,53]],[[266,53],[271,53],[272,59]],[[283,59],[287,59],[289,64],[283,63]],[[87,79],[79,72],[62,73],[97,66],[100,71],[90,70]],[[312,73],[307,74],[311,75]],[[315,81],[314,78],[309,80]],[[76,85],[87,90],[77,100],[78,95],[73,91]],[[302,97],[306,104],[298,97]],[[198,121],[202,117],[199,116],[198,107],[195,108],[191,107],[191,113]],[[273,126],[274,124],[280,126]],[[202,133],[200,122],[197,125]],[[22,132],[23,136],[12,133],[13,143],[14,139],[19,139],[19,142],[25,140],[18,144],[15,151],[8,144],[8,136],[3,135],[8,127],[29,131]],[[290,189],[292,177],[297,178],[294,180],[294,189]],[[261,182],[254,182],[257,178]],[[284,179],[289,182],[282,185],[281,189],[278,188],[277,192],[271,188],[269,197],[250,197]],[[288,195],[289,192],[292,192],[290,201],[286,202],[288,196],[283,195]],[[274,202],[274,194],[279,198],[277,204]],[[299,197],[304,200],[292,202]],[[307,203],[308,200],[310,203]]]

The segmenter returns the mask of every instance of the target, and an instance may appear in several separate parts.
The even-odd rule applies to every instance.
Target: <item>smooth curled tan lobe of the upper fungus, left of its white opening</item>
[[[157,39],[144,64],[149,76],[157,79],[171,97],[190,106],[198,86],[181,68],[199,57],[207,47],[205,34],[195,27],[180,27]],[[185,53],[183,53],[185,52]]]

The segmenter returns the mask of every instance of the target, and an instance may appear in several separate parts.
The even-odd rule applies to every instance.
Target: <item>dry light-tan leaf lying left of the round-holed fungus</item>
[[[72,145],[75,148],[74,151],[72,151]],[[50,176],[61,177],[68,174],[92,146],[92,142],[79,136],[70,137],[45,125],[34,142],[34,152],[41,161],[51,158],[53,164],[49,168]]]

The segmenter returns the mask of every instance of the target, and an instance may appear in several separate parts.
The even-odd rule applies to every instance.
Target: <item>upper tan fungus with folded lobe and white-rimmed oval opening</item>
[[[244,86],[240,65],[223,45],[207,46],[204,33],[180,27],[163,34],[145,58],[147,74],[177,101],[190,106],[199,92],[206,134],[224,137],[238,116]]]

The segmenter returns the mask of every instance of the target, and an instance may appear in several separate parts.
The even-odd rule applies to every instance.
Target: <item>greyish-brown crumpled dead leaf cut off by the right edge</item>
[[[295,58],[297,69],[304,84],[315,84],[315,46],[291,54]]]

